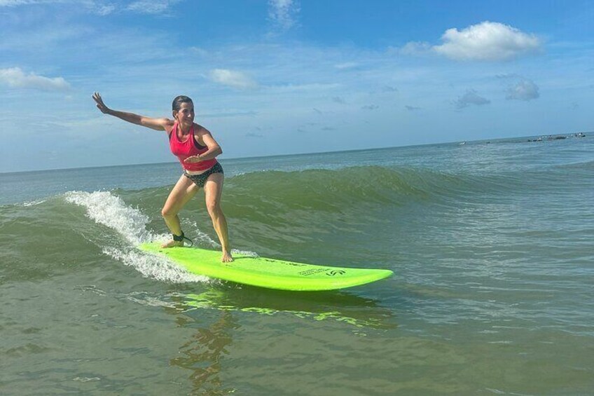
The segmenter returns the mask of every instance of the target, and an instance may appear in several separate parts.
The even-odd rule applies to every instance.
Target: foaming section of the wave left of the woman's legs
[[[165,235],[146,228],[149,218],[109,191],[70,191],[62,196],[1,207],[0,233],[9,279],[32,280],[95,266],[108,256],[146,277],[167,282],[205,281],[134,247]],[[7,261],[4,261],[7,262]]]

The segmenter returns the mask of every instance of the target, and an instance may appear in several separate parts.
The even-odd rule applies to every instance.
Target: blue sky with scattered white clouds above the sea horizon
[[[0,0],[0,172],[594,130],[594,1]]]

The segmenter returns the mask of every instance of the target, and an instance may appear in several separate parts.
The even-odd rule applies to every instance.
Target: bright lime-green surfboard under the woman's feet
[[[198,247],[163,249],[160,243],[155,242],[143,243],[139,249],[167,257],[197,275],[269,289],[300,292],[344,289],[375,282],[393,274],[384,269],[317,266],[244,254],[233,254],[234,261],[221,263],[221,252]]]

